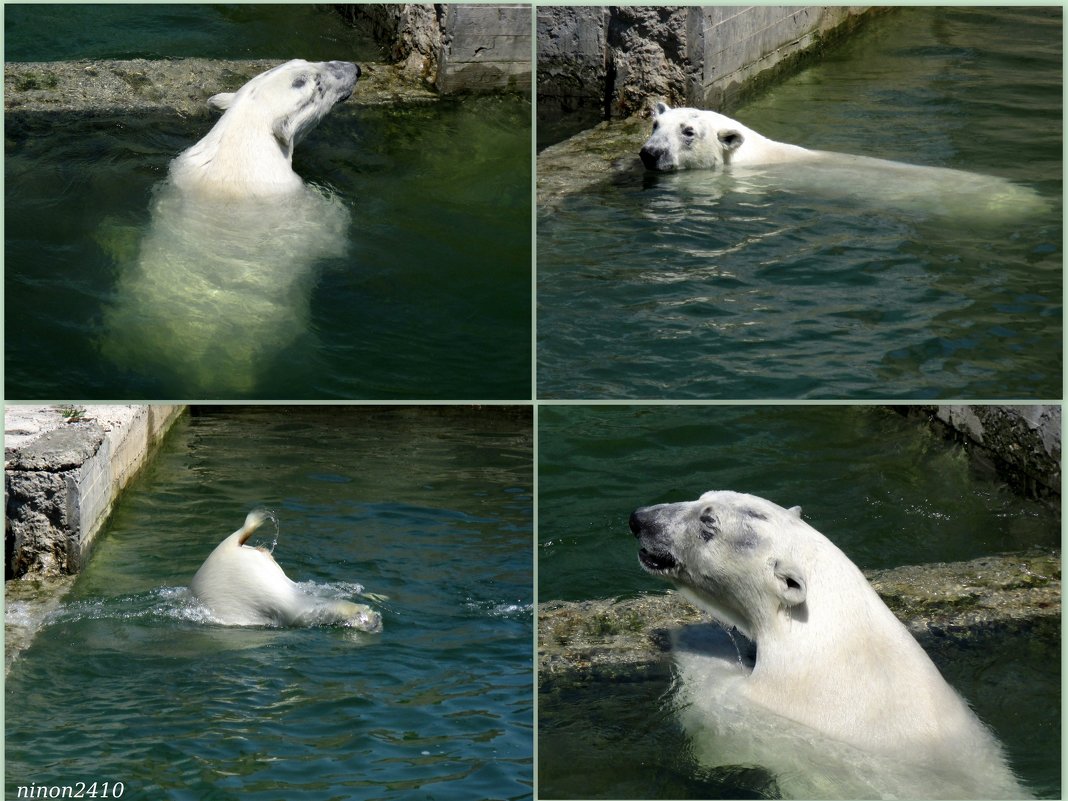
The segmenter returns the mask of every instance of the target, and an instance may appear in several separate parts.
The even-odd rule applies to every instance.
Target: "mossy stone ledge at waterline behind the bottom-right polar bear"
[[[929,653],[986,635],[1022,632],[1047,640],[1051,647],[1059,643],[1059,551],[870,570],[865,576]],[[672,629],[708,619],[677,593],[539,603],[538,681],[642,673],[671,650]]]

